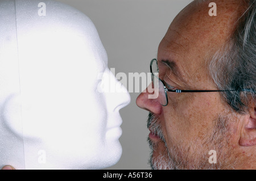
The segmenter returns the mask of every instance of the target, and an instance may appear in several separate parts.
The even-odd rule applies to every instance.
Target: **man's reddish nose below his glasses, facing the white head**
[[[155,115],[159,115],[162,112],[162,105],[159,103],[158,98],[150,98],[149,95],[154,94],[154,92],[148,92],[148,89],[151,85],[149,85],[146,91],[143,91],[137,98],[136,104],[138,107],[142,108],[143,110],[150,111]]]

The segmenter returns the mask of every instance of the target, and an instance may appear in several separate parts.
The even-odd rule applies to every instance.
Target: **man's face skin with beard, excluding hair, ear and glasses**
[[[208,14],[208,3],[192,2],[171,23],[158,49],[159,78],[180,90],[217,90],[208,75],[207,60],[232,32],[237,5],[220,2],[218,16]],[[227,10],[229,9],[229,10]],[[232,11],[232,12],[231,12]],[[224,16],[225,15],[225,16]],[[229,20],[229,22],[227,21]],[[224,23],[225,22],[225,23]],[[167,92],[168,105],[148,99],[148,92],[137,99],[149,110],[149,142],[153,169],[230,169],[236,163],[232,151],[239,124],[221,101],[218,92]],[[216,150],[218,164],[210,164],[209,151]]]

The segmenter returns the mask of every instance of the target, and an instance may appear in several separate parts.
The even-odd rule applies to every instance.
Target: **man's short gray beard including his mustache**
[[[158,119],[149,113],[147,127],[157,134],[164,143],[164,150],[154,157],[154,151],[158,149],[159,144],[154,143],[148,138],[148,144],[151,149],[148,163],[153,170],[180,170],[180,169],[234,169],[234,165],[239,164],[236,154],[228,144],[230,136],[228,131],[228,116],[218,116],[216,125],[210,137],[206,138],[204,144],[198,144],[196,141],[190,145],[167,146]],[[209,149],[210,148],[210,149]],[[195,150],[196,153],[189,155],[189,150]],[[217,163],[209,163],[209,150],[216,150]],[[207,150],[207,151],[205,151]]]

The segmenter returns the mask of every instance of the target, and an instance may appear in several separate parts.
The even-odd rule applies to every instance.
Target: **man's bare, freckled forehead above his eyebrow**
[[[173,20],[164,39],[181,50],[217,49],[232,35],[242,15],[241,1],[216,0],[217,16],[209,15],[209,2],[193,1]],[[175,46],[175,43],[177,46]],[[184,49],[182,49],[184,48]]]

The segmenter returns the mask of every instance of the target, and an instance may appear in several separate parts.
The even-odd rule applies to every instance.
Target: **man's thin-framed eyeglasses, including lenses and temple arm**
[[[168,104],[168,97],[167,92],[176,92],[176,93],[183,93],[183,92],[226,92],[226,91],[252,91],[250,89],[243,89],[243,90],[179,90],[179,89],[168,89],[164,85],[164,81],[162,81],[159,77],[159,68],[158,68],[158,61],[154,58],[150,62],[150,72],[151,72],[151,79],[154,87],[158,87],[159,94],[158,94],[158,101],[162,106],[167,106]]]

